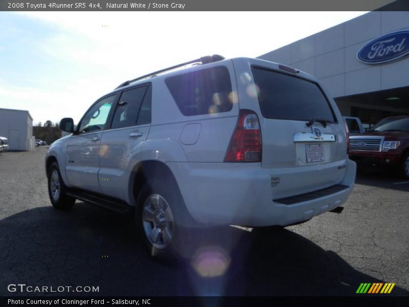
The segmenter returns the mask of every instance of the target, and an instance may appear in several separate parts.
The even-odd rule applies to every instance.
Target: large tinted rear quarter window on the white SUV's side
[[[226,67],[184,73],[165,82],[185,116],[228,112],[233,107],[232,84]]]

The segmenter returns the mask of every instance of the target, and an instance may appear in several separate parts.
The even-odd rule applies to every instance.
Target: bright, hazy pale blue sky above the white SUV
[[[0,12],[0,107],[72,117],[125,80],[205,55],[257,57],[366,12]]]

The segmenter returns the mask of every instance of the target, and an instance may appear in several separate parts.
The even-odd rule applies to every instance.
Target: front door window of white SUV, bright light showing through
[[[78,131],[86,133],[90,131],[106,129],[109,111],[115,102],[115,96],[112,95],[98,101],[83,117]]]

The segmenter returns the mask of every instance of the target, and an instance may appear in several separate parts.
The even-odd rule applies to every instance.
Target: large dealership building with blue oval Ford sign
[[[409,115],[408,11],[369,12],[259,58],[315,76],[366,127]]]

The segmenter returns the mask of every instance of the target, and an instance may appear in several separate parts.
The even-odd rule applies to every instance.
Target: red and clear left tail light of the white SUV
[[[256,113],[240,110],[224,162],[261,162],[261,130]]]

